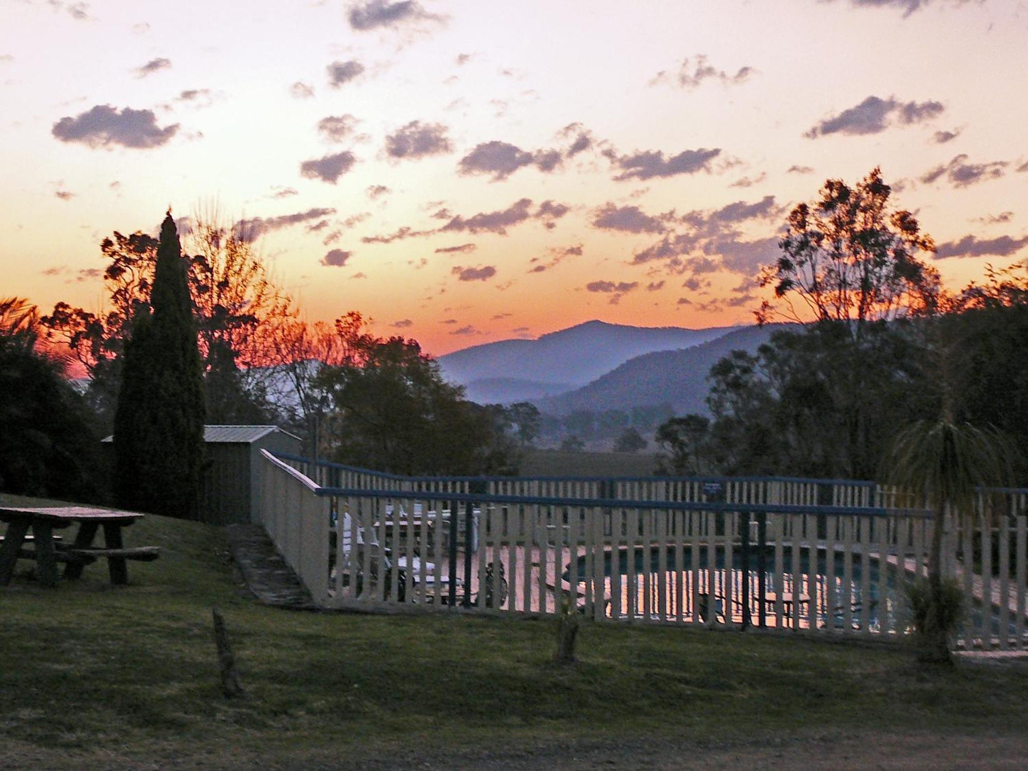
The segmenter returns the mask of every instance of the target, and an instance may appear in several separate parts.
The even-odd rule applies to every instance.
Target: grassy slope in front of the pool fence
[[[0,767],[270,766],[572,737],[1028,730],[1023,670],[928,677],[903,651],[591,624],[581,662],[561,669],[549,661],[546,623],[278,611],[236,593],[217,528],[148,517],[126,542],[164,551],[132,563],[125,589],[110,589],[100,564],[57,591],[24,578],[0,589]],[[236,702],[217,688],[214,603],[249,692]]]

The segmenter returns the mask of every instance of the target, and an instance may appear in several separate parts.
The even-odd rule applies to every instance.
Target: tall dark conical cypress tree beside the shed
[[[186,262],[171,211],[160,226],[152,314],[141,311],[125,345],[114,416],[122,506],[195,517],[204,452],[204,370]]]

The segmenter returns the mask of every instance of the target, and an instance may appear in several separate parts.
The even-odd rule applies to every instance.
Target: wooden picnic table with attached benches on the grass
[[[151,561],[160,556],[155,546],[126,549],[121,539],[121,528],[133,524],[144,515],[135,511],[97,509],[84,506],[23,507],[0,506],[0,521],[7,522],[7,534],[0,540],[0,586],[6,586],[14,574],[14,563],[20,559],[35,559],[39,583],[57,586],[58,563],[64,562],[66,579],[77,579],[82,568],[100,557],[107,558],[111,583],[128,583],[126,560]],[[72,544],[58,543],[53,530],[78,524]],[[104,546],[94,547],[98,530],[104,529]],[[29,537],[29,530],[32,537]],[[35,548],[24,548],[31,543]]]

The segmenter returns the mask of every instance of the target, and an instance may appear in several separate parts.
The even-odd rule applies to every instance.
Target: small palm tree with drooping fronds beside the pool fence
[[[944,398],[944,403],[948,401]],[[994,511],[1000,495],[996,490],[1011,484],[1013,448],[1004,435],[956,423],[944,406],[938,420],[919,420],[900,432],[886,457],[885,481],[896,487],[897,501],[922,504],[934,513],[928,553],[929,598],[918,629],[919,658],[929,663],[949,663],[950,633],[954,625],[948,613],[943,581],[943,526],[949,510],[967,522],[981,502],[986,513]],[[965,565],[970,570],[970,565]]]

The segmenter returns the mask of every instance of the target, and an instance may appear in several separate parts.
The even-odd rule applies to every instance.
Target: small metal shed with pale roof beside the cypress
[[[199,517],[211,524],[256,521],[260,451],[299,454],[302,444],[278,426],[205,426],[204,442]]]

